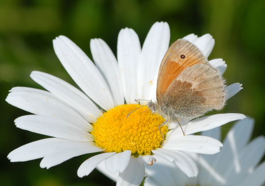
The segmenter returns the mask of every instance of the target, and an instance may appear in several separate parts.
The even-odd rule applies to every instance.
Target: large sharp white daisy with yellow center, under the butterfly
[[[189,134],[245,116],[217,114],[182,121],[185,136],[176,124],[167,124],[161,127],[163,141],[159,125],[165,120],[147,107],[138,109],[141,105],[135,99],[156,100],[159,64],[168,49],[169,36],[167,23],[155,23],[141,48],[137,34],[123,29],[118,35],[117,59],[102,39],[92,39],[94,63],[69,38],[56,37],[54,51],[81,91],[39,71],[33,71],[30,77],[47,91],[11,89],[6,101],[33,114],[17,118],[16,126],[52,138],[26,144],[8,158],[12,162],[42,158],[40,166],[50,168],[78,155],[99,152],[80,165],[78,176],[86,176],[104,163],[109,172],[118,175],[119,186],[139,185],[145,176],[145,164],[157,160],[154,155],[174,161],[187,176],[196,176],[197,166],[186,153],[215,154],[222,144],[211,137]],[[190,34],[185,39],[206,57],[210,55],[214,45],[210,34]],[[222,59],[210,63],[220,73],[227,66]],[[241,85],[235,83],[226,89],[231,97]]]

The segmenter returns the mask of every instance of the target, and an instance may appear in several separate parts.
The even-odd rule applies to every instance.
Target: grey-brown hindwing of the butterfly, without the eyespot
[[[173,119],[199,117],[225,104],[225,85],[219,72],[205,64],[186,68],[161,97],[162,107]]]

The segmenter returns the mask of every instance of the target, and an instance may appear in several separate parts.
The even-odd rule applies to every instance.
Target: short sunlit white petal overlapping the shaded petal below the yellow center
[[[105,162],[107,170],[113,174],[123,172],[129,163],[131,153],[131,151],[124,151],[108,157]]]

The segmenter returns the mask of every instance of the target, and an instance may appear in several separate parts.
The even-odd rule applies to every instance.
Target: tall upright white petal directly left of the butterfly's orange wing
[[[164,22],[155,23],[146,36],[138,69],[139,99],[156,101],[159,66],[168,49],[169,38],[169,26]]]

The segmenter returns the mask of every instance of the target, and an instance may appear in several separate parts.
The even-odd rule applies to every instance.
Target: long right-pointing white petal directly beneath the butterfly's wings
[[[217,126],[221,126],[223,124],[227,124],[229,122],[233,122],[236,120],[242,120],[245,118],[243,114],[234,114],[234,113],[227,113],[227,114],[215,114],[210,116],[205,116],[201,118],[197,118],[188,122],[187,124],[183,125],[183,129],[186,135],[193,134],[196,132],[201,132],[204,130],[210,130]],[[183,135],[183,132],[180,127],[177,127],[170,137],[172,136],[180,136]]]

